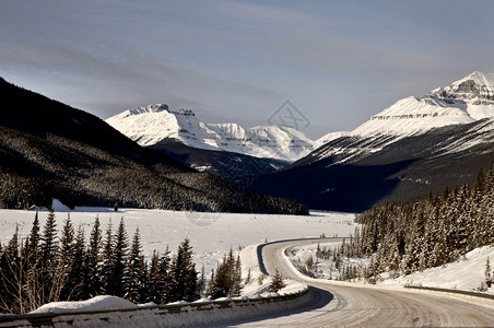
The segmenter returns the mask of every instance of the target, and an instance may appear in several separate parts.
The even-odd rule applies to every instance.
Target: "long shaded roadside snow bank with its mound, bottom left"
[[[286,298],[230,300],[166,306],[139,307],[114,296],[101,296],[86,302],[58,302],[23,316],[0,316],[0,327],[210,327],[238,324],[256,317],[285,313],[311,302],[310,293]],[[116,312],[117,308],[125,309]],[[87,313],[92,311],[95,313]],[[99,311],[115,311],[102,313]],[[46,317],[42,315],[46,314]],[[16,319],[9,321],[8,319]],[[32,324],[30,324],[32,321]]]

